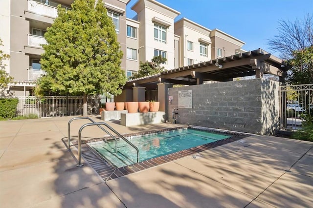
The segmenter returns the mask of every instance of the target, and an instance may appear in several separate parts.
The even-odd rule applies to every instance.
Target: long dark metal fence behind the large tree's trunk
[[[76,96],[14,96],[19,99],[16,117],[37,115],[43,117],[78,116],[83,114],[83,97]],[[106,102],[114,102],[113,97],[88,97],[88,114],[99,113]]]

